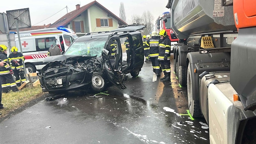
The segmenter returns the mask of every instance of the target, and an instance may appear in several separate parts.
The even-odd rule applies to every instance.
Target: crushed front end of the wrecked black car
[[[42,91],[57,92],[90,87],[91,76],[102,71],[96,57],[84,55],[58,55],[48,57],[48,64],[39,74]]]

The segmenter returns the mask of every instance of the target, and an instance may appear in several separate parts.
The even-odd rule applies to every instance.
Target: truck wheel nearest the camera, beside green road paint
[[[193,117],[202,117],[202,112],[200,109],[200,102],[193,100],[193,85],[191,79],[190,63],[187,70],[187,94],[189,103],[189,112]]]

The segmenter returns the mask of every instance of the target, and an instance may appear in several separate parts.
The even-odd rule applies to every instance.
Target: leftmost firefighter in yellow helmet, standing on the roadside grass
[[[0,59],[6,62],[3,67],[0,67],[2,92],[8,93],[10,90],[13,92],[19,91],[15,81],[13,80],[13,70],[10,67],[9,59],[7,58],[7,47],[4,44],[0,44]]]

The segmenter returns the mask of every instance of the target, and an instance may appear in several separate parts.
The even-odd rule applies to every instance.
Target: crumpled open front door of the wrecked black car
[[[120,43],[120,42],[119,42]],[[118,44],[117,44],[118,45]],[[102,59],[103,59],[103,68],[108,80],[116,85],[119,89],[126,89],[126,86],[123,84],[124,80],[127,79],[127,76],[123,74],[120,70],[121,64],[119,64],[119,50],[121,48],[117,47],[117,57],[116,59],[109,59],[109,54],[111,53],[107,49],[102,49]]]

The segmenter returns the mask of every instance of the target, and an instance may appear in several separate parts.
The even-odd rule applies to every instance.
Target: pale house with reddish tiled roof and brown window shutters
[[[82,7],[77,4],[76,10],[67,13],[49,28],[70,28],[78,36],[82,36],[88,32],[114,30],[121,25],[127,25],[127,23],[95,0]]]

